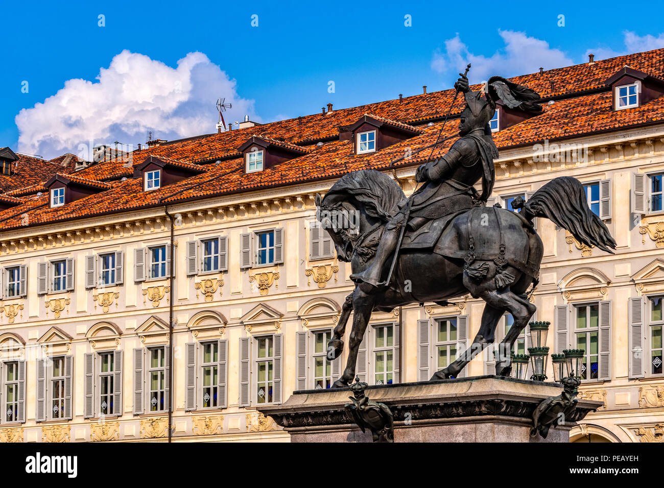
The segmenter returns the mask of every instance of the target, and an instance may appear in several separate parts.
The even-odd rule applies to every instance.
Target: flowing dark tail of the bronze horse
[[[569,176],[552,179],[520,206],[527,220],[546,217],[568,230],[578,242],[614,254],[616,240],[602,219],[590,210],[586,190],[578,179]]]

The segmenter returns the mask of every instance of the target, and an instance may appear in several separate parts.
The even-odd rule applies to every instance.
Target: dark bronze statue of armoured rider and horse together
[[[514,324],[496,348],[495,368],[497,375],[508,376],[513,343],[536,310],[529,293],[539,282],[543,248],[533,218],[552,220],[588,246],[611,253],[616,248],[604,222],[590,210],[583,186],[572,177],[553,179],[528,201],[515,199],[512,206],[519,212],[487,207],[495,181],[493,159],[498,157],[489,128],[496,101],[537,114],[540,96],[500,76],[473,92],[461,74],[454,87],[465,98],[459,137],[445,155],[430,156],[418,167],[416,181],[422,186],[410,198],[394,179],[371,169],[344,175],[316,198],[317,218],[333,239],[339,260],[351,264],[356,284],[328,344],[329,359],[339,357],[352,311],[349,357],[333,387],[345,387],[355,378],[358,348],[374,310],[426,301],[447,305],[448,299],[468,293],[485,301],[479,331],[467,351],[431,379],[455,378],[493,343],[505,312]],[[357,216],[354,228],[343,224],[351,219],[331,217],[351,213]]]

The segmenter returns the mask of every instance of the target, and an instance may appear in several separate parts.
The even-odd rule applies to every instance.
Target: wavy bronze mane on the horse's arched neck
[[[398,212],[397,204],[406,195],[386,174],[375,169],[361,169],[343,175],[325,194],[322,204],[333,208],[349,198],[363,204],[367,214],[387,222]]]

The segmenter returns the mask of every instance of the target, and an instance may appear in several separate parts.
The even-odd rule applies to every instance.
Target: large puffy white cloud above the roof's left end
[[[19,151],[55,157],[120,141],[135,145],[147,131],[158,139],[178,139],[215,131],[214,103],[225,97],[232,109],[226,123],[254,113],[254,101],[238,97],[236,82],[201,52],[190,52],[171,68],[124,50],[96,82],[72,79],[64,88],[16,116]]]

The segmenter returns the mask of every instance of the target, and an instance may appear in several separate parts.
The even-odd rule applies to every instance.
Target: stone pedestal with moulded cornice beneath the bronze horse
[[[557,383],[477,376],[369,386],[366,394],[394,414],[394,442],[569,442],[569,431],[602,402],[579,400],[574,418],[531,437],[533,412]],[[347,388],[296,391],[281,405],[258,408],[291,435],[291,442],[371,442],[347,417]]]

